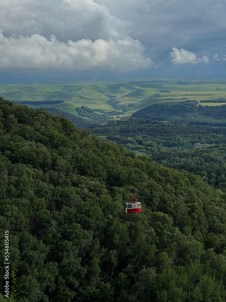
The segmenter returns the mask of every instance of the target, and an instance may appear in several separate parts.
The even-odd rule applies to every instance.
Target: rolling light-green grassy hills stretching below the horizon
[[[209,79],[203,77],[198,82],[194,78],[168,77],[164,79],[126,79],[124,83],[114,81],[98,82],[92,85],[76,84],[10,84],[0,87],[0,96],[10,101],[33,101],[30,107],[55,107],[77,115],[77,107],[86,106],[96,113],[111,112],[111,117],[129,117],[133,112],[157,102],[189,100],[211,100],[226,96],[225,79]],[[135,81],[169,81],[165,83],[128,83]],[[126,82],[127,81],[127,82]],[[193,81],[193,82],[192,82]],[[119,81],[120,82],[120,81]],[[180,82],[180,83],[179,83]],[[183,82],[181,84],[181,82]],[[191,85],[191,83],[196,83]],[[36,101],[63,100],[63,104],[36,105]],[[137,106],[123,108],[128,104]],[[218,106],[226,103],[200,103],[208,106]],[[123,110],[122,110],[123,109]]]

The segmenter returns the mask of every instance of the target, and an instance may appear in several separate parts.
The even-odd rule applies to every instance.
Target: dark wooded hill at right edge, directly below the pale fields
[[[157,103],[133,113],[132,116],[151,120],[188,122],[194,125],[225,126],[226,105],[197,106],[197,104],[197,101]]]

